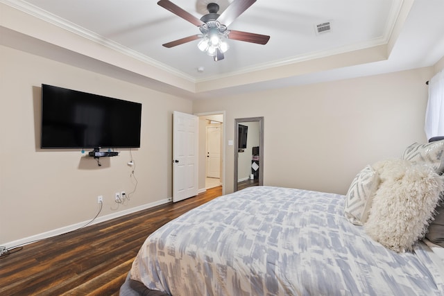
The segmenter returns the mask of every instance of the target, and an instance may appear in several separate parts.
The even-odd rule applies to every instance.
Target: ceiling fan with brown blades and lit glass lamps
[[[219,11],[219,5],[217,3],[208,3],[207,15],[204,15],[198,19],[169,0],[160,0],[157,2],[157,4],[173,12],[175,15],[182,17],[182,19],[189,21],[191,24],[198,26],[201,33],[162,45],[167,48],[171,48],[173,46],[178,46],[180,44],[200,39],[200,42],[198,43],[198,48],[200,51],[204,51],[208,55],[212,55],[214,57],[214,61],[217,62],[218,60],[223,60],[223,53],[228,50],[228,43],[226,42],[227,39],[256,44],[266,44],[270,39],[270,36],[228,30],[228,26],[230,26],[234,19],[239,17],[239,15],[241,15],[255,2],[256,0],[234,0],[228,6],[228,8],[222,12],[221,15],[217,13]]]

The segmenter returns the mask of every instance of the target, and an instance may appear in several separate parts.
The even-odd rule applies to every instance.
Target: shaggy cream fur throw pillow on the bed
[[[444,177],[430,166],[393,159],[375,164],[381,182],[373,198],[366,233],[395,251],[411,250],[427,232]]]

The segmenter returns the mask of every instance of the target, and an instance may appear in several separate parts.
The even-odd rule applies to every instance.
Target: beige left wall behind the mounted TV
[[[100,216],[171,198],[172,112],[191,113],[191,101],[3,46],[0,64],[0,245],[92,219],[98,195]],[[135,187],[130,150],[101,158],[99,167],[80,150],[39,148],[42,83],[142,103],[129,202],[116,204],[114,193]]]

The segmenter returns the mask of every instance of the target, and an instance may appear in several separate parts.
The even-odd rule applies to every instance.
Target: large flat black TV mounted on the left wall
[[[139,148],[142,104],[42,84],[41,148]]]

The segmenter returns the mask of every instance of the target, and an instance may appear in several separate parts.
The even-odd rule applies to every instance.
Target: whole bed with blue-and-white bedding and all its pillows
[[[223,195],[148,236],[121,295],[444,295],[443,169],[444,141],[414,143],[346,195]]]

